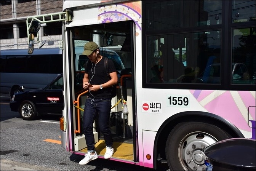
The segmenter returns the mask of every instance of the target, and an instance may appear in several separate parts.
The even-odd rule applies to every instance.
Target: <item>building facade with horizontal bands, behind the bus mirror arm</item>
[[[30,16],[62,12],[62,0],[1,0],[1,50],[27,49],[26,20]],[[42,25],[43,26],[43,25]],[[35,48],[46,40],[42,48],[59,47],[62,22],[46,23],[35,35]],[[39,42],[37,42],[39,40]]]

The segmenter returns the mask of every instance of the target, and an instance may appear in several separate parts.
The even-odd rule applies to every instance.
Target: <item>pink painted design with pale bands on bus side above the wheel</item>
[[[234,123],[237,128],[251,132],[247,122],[250,120],[249,125],[253,127],[255,108],[249,111],[249,119],[248,108],[255,106],[251,104],[255,101],[255,91],[190,90],[190,93],[208,112],[216,113]],[[218,104],[220,104],[219,107],[217,107]],[[227,108],[230,111],[228,113],[225,112]]]

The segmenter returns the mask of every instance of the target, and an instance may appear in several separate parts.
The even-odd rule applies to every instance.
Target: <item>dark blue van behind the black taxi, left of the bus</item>
[[[62,50],[59,48],[1,50],[1,93],[44,88],[62,73]]]

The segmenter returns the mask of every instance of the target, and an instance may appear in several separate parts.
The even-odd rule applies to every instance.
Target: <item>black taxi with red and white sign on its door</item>
[[[82,87],[84,71],[78,71],[75,78],[75,94],[85,91]],[[58,75],[49,85],[41,89],[25,91],[21,86],[19,93],[15,93],[10,101],[11,111],[19,112],[23,120],[34,120],[40,115],[62,115],[63,102],[63,74]]]

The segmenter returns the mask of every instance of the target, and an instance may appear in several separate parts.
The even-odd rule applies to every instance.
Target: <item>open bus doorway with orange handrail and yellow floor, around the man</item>
[[[133,75],[133,21],[115,22],[88,25],[86,29],[80,27],[70,28],[70,34],[75,34],[72,40],[67,40],[70,44],[70,49],[73,50],[70,56],[70,66],[72,70],[83,70],[83,65],[87,56],[82,55],[83,46],[88,41],[96,42],[100,47],[100,54],[106,56],[114,61],[117,74],[118,86],[117,95],[112,98],[112,108],[110,112],[110,131],[114,139],[114,158],[130,160],[133,162],[134,158],[134,75]],[[87,35],[87,36],[86,36]],[[73,43],[73,45],[72,45]],[[81,48],[82,47],[82,48]],[[80,50],[79,50],[80,49]],[[66,69],[67,70],[67,69]],[[74,72],[75,73],[75,72]],[[73,75],[72,77],[75,78]],[[73,85],[75,88],[75,86]],[[70,89],[72,89],[70,87]],[[73,92],[74,93],[74,92]],[[75,132],[72,135],[72,149],[73,151],[86,153],[86,143],[83,134],[83,109],[88,91],[74,96],[74,110],[72,114],[71,125],[74,123]],[[71,106],[71,104],[70,104]],[[94,139],[96,151],[100,156],[104,156],[106,150],[103,134],[99,131],[98,118],[94,123]]]

